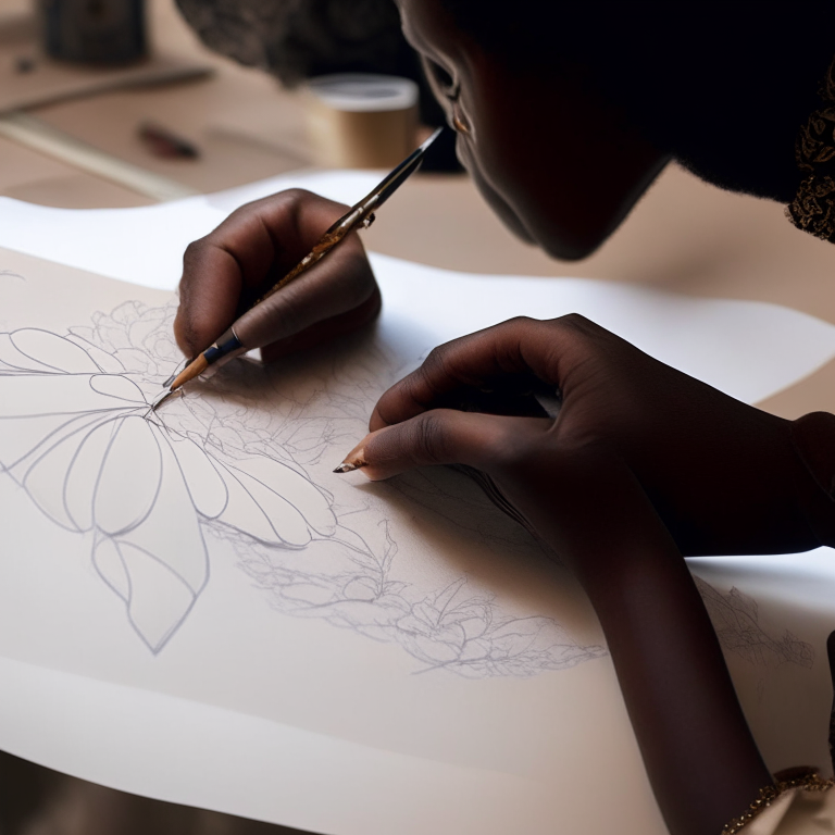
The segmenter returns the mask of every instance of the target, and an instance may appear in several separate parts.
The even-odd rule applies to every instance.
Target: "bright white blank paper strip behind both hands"
[[[352,203],[379,172],[296,172],[228,189],[137,209],[52,209],[0,197],[0,247],[89,270],[142,287],[174,290],[183,252],[229,212],[287,188],[307,188]],[[548,319],[579,312],[648,353],[756,402],[792,385],[833,356],[832,325],[787,315],[762,302],[693,299],[622,284],[563,278],[478,276],[371,253],[392,315],[414,311],[431,323],[435,342],[514,315]],[[512,279],[512,284],[508,281]],[[424,292],[414,292],[425,287]],[[510,288],[513,289],[510,289]],[[443,296],[450,321],[438,315]],[[790,322],[782,333],[783,322]]]

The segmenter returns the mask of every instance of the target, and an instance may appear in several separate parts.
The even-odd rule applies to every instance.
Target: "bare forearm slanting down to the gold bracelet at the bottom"
[[[545,484],[545,466],[532,472]],[[687,565],[622,461],[583,451],[559,472],[559,513],[510,498],[595,607],[670,832],[720,835],[772,778]]]

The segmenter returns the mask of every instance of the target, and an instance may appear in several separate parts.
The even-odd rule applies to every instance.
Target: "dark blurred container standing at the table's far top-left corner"
[[[145,0],[41,0],[47,54],[85,64],[129,64],[147,54]]]

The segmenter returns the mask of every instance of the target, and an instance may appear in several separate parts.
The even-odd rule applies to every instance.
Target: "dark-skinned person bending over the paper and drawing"
[[[800,229],[835,240],[832,4],[686,2],[676,20],[653,3],[398,5],[461,161],[507,225],[553,257],[594,251],[671,159],[780,200]],[[344,210],[283,192],[192,244],[175,322],[184,352]],[[264,357],[337,338],[379,304],[352,239],[273,297]],[[532,382],[559,390],[556,420],[533,403],[449,408]],[[683,558],[835,545],[835,416],[790,422],[743,404],[582,316],[518,319],[435,349],[382,397],[345,463],[373,479],[475,468],[576,574],[673,835],[773,832],[803,792],[828,788],[769,773]]]

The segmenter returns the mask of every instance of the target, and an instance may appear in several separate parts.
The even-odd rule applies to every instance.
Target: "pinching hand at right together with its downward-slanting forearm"
[[[556,420],[522,396],[544,384]],[[346,461],[372,479],[481,471],[586,589],[670,832],[718,835],[772,777],[682,554],[820,544],[807,512],[825,497],[792,427],[582,316],[516,319],[435,349]]]

